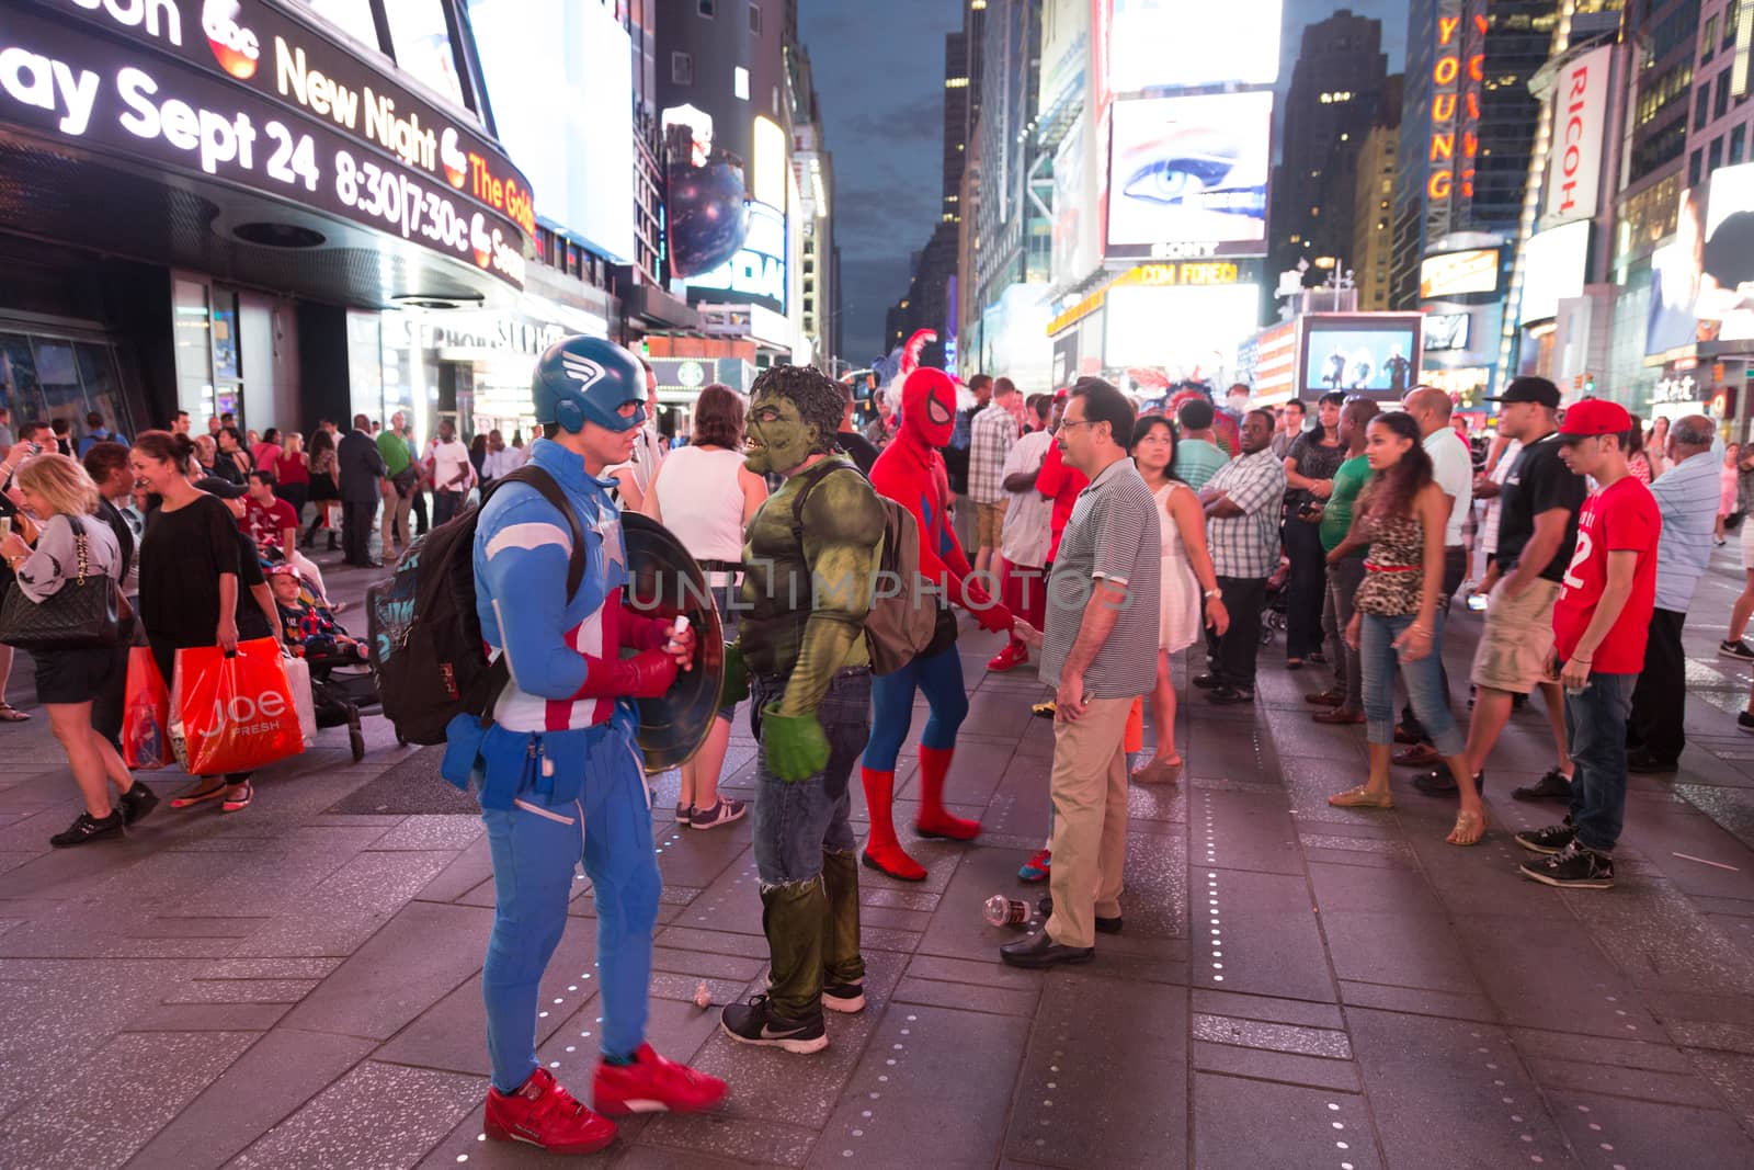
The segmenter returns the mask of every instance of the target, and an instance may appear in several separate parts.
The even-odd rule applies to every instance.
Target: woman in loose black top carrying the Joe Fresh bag
[[[263,581],[261,567],[244,554],[232,510],[182,474],[191,454],[188,437],[170,432],[146,432],[130,454],[135,477],[161,498],[140,540],[140,621],[167,684],[175,677],[179,649],[217,644],[235,651],[244,637],[274,633],[265,614],[256,614],[249,628],[244,605],[258,605],[249,582]],[[246,614],[242,623],[240,614]],[[221,796],[223,812],[247,809],[254,796],[249,772],[198,779],[170,807],[188,809]]]

